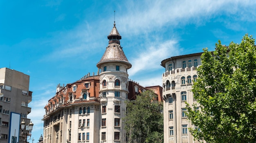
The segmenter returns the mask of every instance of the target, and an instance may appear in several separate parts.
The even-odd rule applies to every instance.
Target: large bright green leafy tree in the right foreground
[[[228,47],[204,49],[193,95],[198,105],[187,104],[187,116],[200,130],[190,128],[196,139],[209,143],[256,141],[256,46],[245,35]],[[195,111],[200,106],[201,111]]]

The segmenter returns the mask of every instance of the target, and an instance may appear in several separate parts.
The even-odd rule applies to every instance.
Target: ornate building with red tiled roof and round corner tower
[[[97,74],[58,85],[56,95],[45,106],[44,143],[124,143],[122,118],[126,100],[153,89],[161,100],[162,87],[142,87],[128,79],[128,62],[115,26],[108,35],[108,46],[97,67]]]

